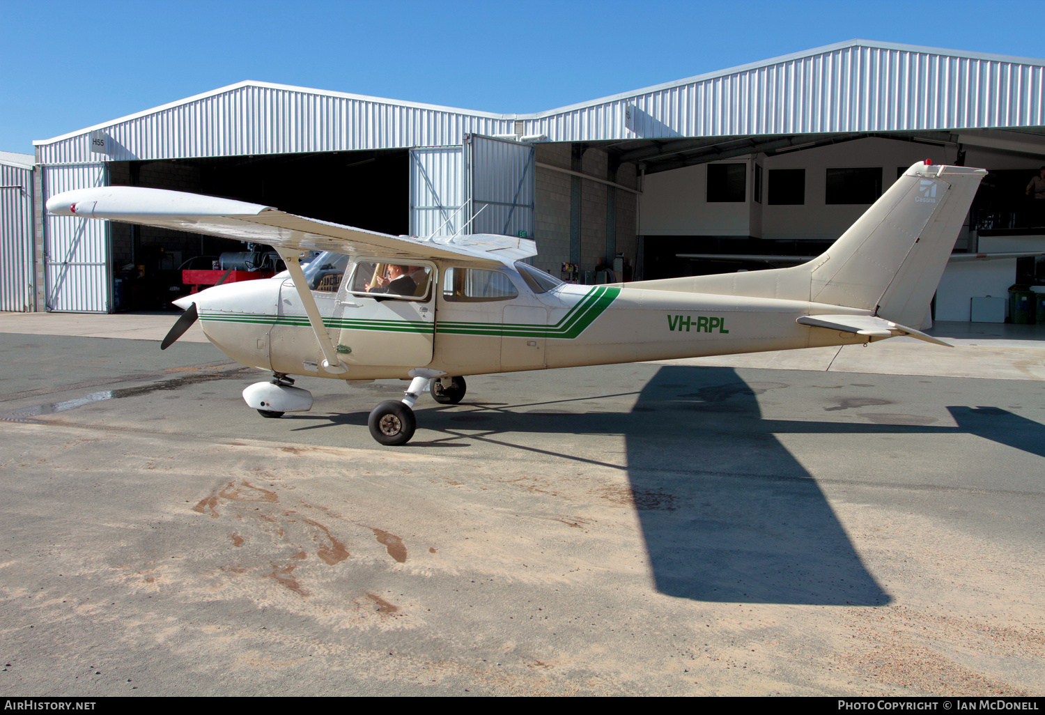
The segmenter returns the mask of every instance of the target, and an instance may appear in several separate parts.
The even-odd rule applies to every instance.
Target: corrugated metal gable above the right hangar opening
[[[551,141],[1045,124],[1045,67],[853,46],[525,122]]]

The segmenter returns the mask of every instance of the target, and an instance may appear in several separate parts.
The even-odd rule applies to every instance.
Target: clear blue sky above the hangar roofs
[[[0,149],[259,79],[538,112],[862,38],[1045,57],[1045,4],[0,0]]]

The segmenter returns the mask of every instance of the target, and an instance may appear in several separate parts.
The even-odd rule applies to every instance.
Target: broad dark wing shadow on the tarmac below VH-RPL
[[[883,605],[813,476],[728,368],[664,367],[626,432],[656,587],[701,601]]]

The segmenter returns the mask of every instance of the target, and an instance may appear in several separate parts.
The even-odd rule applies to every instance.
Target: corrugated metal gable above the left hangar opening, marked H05
[[[107,126],[113,161],[460,144],[513,122],[408,103],[264,85],[214,93]],[[98,161],[82,134],[39,146],[45,164]]]

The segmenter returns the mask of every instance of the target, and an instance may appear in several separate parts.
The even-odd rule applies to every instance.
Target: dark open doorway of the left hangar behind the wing
[[[399,235],[410,227],[408,162],[408,149],[121,161],[110,163],[109,183],[236,199]],[[247,251],[242,241],[147,226],[112,223],[111,235],[118,310],[173,309],[170,301],[191,290],[183,269],[228,267],[229,254]],[[262,271],[271,268],[279,267]]]

